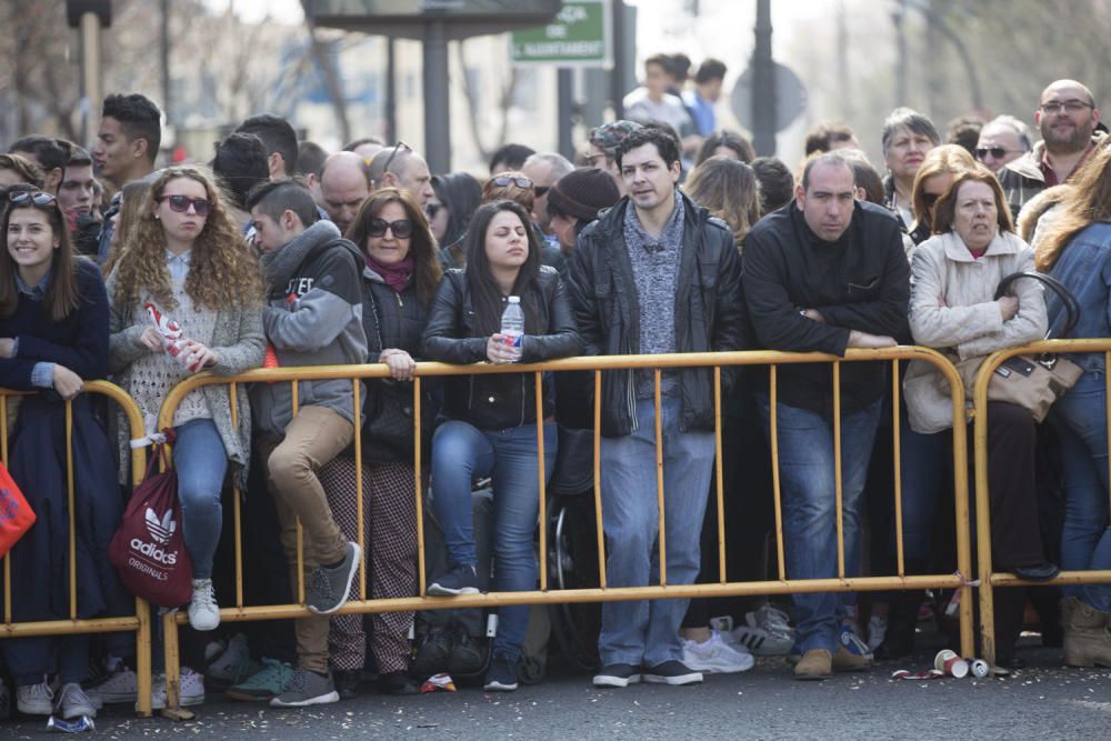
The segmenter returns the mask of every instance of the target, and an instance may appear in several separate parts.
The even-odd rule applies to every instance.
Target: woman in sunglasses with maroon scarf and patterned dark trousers
[[[389,599],[417,593],[417,504],[413,484],[413,439],[381,434],[383,414],[412,408],[413,356],[420,348],[428,310],[440,282],[436,240],[417,201],[407,190],[382,188],[362,206],[346,237],[363,253],[362,326],[368,359],[386,363],[389,379],[367,383],[362,413],[363,542],[369,547],[370,597]],[[431,434],[432,400],[428,385],[421,399],[426,435]],[[390,407],[387,410],[387,405]],[[427,450],[426,450],[427,452]],[[343,535],[359,540],[354,460],[340,455],[320,471],[332,514]],[[409,630],[413,613],[370,617],[371,651],[378,667],[378,689],[386,694],[413,694],[409,678]],[[353,697],[367,652],[363,615],[331,620],[329,662],[340,697]]]

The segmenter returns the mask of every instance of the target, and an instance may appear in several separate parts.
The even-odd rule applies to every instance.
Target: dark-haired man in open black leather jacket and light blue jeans
[[[571,298],[587,354],[710,352],[743,347],[740,258],[729,228],[675,190],[678,142],[659,129],[630,133],[618,167],[628,196],[579,237]],[[722,398],[732,374],[722,372]],[[714,442],[713,371],[667,370],[660,379],[664,532],[658,532],[655,383],[651,370],[602,374],[601,497],[610,587],[658,579],[657,537],[669,584],[699,571],[699,533]],[[688,684],[679,625],[688,600],[602,605],[598,687]]]

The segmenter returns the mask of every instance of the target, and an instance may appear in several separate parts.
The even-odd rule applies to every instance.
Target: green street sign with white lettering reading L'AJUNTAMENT
[[[509,48],[513,64],[609,67],[609,0],[564,0],[551,23],[513,31]]]

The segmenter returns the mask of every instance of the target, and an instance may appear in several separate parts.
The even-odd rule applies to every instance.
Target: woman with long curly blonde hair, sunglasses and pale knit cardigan
[[[148,429],[170,389],[190,373],[233,375],[262,363],[262,270],[224,199],[207,170],[163,170],[108,278],[109,370],[138,402]],[[181,328],[181,350],[172,356],[156,327],[170,320]],[[243,474],[250,453],[247,394],[238,401],[238,429],[222,385],[189,393],[173,418],[182,534],[193,568],[189,622],[197,630],[220,622],[212,590],[220,490],[228,461]],[[127,449],[121,435],[121,464]]]

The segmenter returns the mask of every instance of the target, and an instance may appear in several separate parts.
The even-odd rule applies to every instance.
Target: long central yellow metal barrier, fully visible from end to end
[[[787,353],[787,352],[774,352],[774,351],[748,351],[748,352],[711,352],[711,353],[675,353],[675,354],[657,354],[657,356],[610,356],[610,357],[594,357],[594,358],[569,358],[559,361],[552,361],[548,363],[538,364],[508,364],[508,366],[493,366],[493,364],[476,364],[476,366],[451,366],[446,363],[429,363],[421,362],[417,364],[417,379],[413,389],[413,408],[414,408],[414,424],[417,425],[417,434],[414,434],[414,492],[417,499],[417,532],[418,532],[418,588],[422,592],[420,597],[404,598],[404,599],[380,599],[380,600],[368,600],[367,589],[366,589],[366,578],[360,577],[359,580],[359,599],[350,600],[337,614],[348,614],[348,613],[378,613],[378,612],[396,612],[396,611],[409,611],[409,610],[429,610],[429,609],[456,609],[456,608],[471,608],[471,607],[497,607],[502,604],[551,604],[551,603],[563,603],[563,602],[599,602],[599,601],[617,601],[617,600],[630,600],[630,599],[662,599],[662,598],[712,598],[712,597],[727,597],[727,595],[745,595],[745,594],[784,594],[784,593],[795,593],[795,592],[819,592],[819,591],[881,591],[881,590],[915,590],[925,588],[940,588],[940,589],[955,589],[961,591],[961,602],[960,602],[960,627],[961,627],[961,651],[963,655],[971,655],[973,645],[972,635],[972,594],[971,594],[971,545],[970,545],[970,518],[968,509],[968,447],[967,447],[967,435],[965,425],[957,423],[953,425],[953,484],[955,490],[955,523],[957,523],[957,573],[945,573],[945,574],[927,574],[927,575],[907,575],[904,563],[903,563],[903,545],[902,545],[902,507],[901,507],[901,483],[900,483],[900,440],[899,440],[899,400],[901,398],[899,388],[899,363],[904,361],[919,360],[928,362],[937,367],[941,373],[949,381],[952,393],[952,411],[954,420],[965,419],[967,408],[964,389],[961,383],[960,374],[957,369],[945,359],[941,353],[930,350],[928,348],[920,347],[898,347],[898,348],[887,348],[882,350],[849,350],[844,358],[838,358],[835,356],[821,354],[821,353]],[[841,440],[841,420],[840,420],[840,368],[842,363],[845,362],[890,362],[891,363],[891,374],[892,374],[892,393],[894,399],[893,404],[893,429],[894,429],[894,457],[895,457],[895,475],[894,475],[894,497],[895,497],[895,535],[897,535],[897,573],[894,575],[885,577],[847,577],[845,575],[845,562],[844,562],[844,542],[843,542],[843,523],[841,519],[841,470],[840,470],[840,449],[842,444]],[[777,368],[783,364],[799,364],[799,363],[832,363],[833,369],[833,395],[834,395],[834,460],[835,462],[835,474],[837,474],[837,532],[838,532],[838,575],[830,579],[812,579],[812,580],[790,580],[787,578],[785,559],[784,559],[784,547],[783,547],[783,519],[782,519],[782,501],[779,483],[778,473],[778,435],[777,435],[777,418],[775,418],[775,404],[777,399]],[[770,367],[770,394],[773,400],[771,405],[771,435],[770,444],[772,450],[773,460],[773,495],[775,503],[775,532],[778,541],[778,567],[779,567],[779,579],[774,581],[759,581],[759,582],[730,582],[728,581],[728,575],[725,573],[725,533],[724,533],[724,518],[723,518],[723,487],[722,487],[722,471],[721,471],[721,459],[722,459],[722,420],[721,420],[721,407],[722,407],[722,389],[721,389],[721,369],[724,367],[734,366],[769,366]],[[714,420],[714,442],[717,450],[717,468],[715,468],[715,482],[717,482],[717,497],[715,505],[718,508],[718,543],[719,543],[719,568],[720,580],[718,583],[701,583],[701,584],[684,584],[684,585],[673,585],[669,584],[667,581],[667,558],[665,558],[665,538],[667,538],[667,527],[664,522],[664,508],[663,508],[663,462],[662,462],[662,432],[660,429],[660,380],[662,369],[675,369],[675,368],[712,368],[713,369],[713,383],[714,383],[714,399],[717,403],[717,412]],[[574,590],[560,590],[560,591],[549,591],[548,589],[548,549],[546,545],[546,528],[540,527],[539,539],[540,539],[540,589],[537,591],[528,592],[490,592],[487,594],[467,594],[454,597],[450,599],[444,598],[429,598],[423,595],[423,589],[426,583],[424,573],[424,539],[422,529],[422,517],[423,512],[422,505],[422,491],[421,491],[421,468],[423,461],[421,460],[421,450],[419,441],[420,435],[420,403],[421,403],[421,392],[420,384],[422,378],[429,377],[440,377],[440,375],[469,375],[469,374],[488,374],[488,373],[532,373],[533,382],[537,390],[537,439],[538,439],[538,457],[540,463],[540,512],[541,515],[546,511],[546,489],[543,480],[543,414],[542,414],[542,373],[547,371],[593,371],[593,382],[594,382],[594,398],[600,398],[601,394],[601,382],[602,382],[602,371],[610,370],[624,370],[624,369],[651,369],[654,371],[654,384],[655,384],[655,408],[657,408],[657,423],[655,423],[655,442],[657,442],[657,492],[659,498],[659,549],[660,549],[660,583],[654,587],[628,587],[628,588],[609,588],[607,587],[605,579],[605,559],[599,559],[599,584],[597,589],[574,589]],[[363,510],[363,491],[362,491],[362,477],[361,477],[361,448],[358,444],[359,440],[359,429],[361,427],[361,404],[359,403],[359,379],[372,379],[372,378],[388,378],[389,369],[384,364],[364,364],[364,366],[328,366],[328,367],[310,367],[310,368],[278,368],[278,369],[258,369],[252,370],[236,377],[219,377],[211,373],[200,373],[181,381],[176,385],[170,393],[167,395],[162,409],[159,415],[159,427],[170,427],[172,423],[174,411],[181,400],[191,391],[206,387],[216,384],[228,384],[230,385],[230,395],[232,401],[232,409],[238,411],[237,408],[237,394],[241,392],[241,387],[243,383],[274,383],[274,382],[290,382],[292,384],[292,401],[294,413],[298,409],[298,393],[297,383],[298,381],[309,381],[309,380],[350,380],[352,383],[354,399],[356,399],[356,470],[359,472],[357,478],[357,501],[359,512]],[[599,445],[600,445],[600,418],[601,408],[600,404],[594,404],[594,508],[598,521],[597,528],[597,540],[599,547],[599,553],[604,553],[604,532],[602,528],[602,517],[601,517],[601,499],[598,494],[600,491],[599,482],[601,479],[601,464],[599,457]],[[221,622],[232,622],[240,620],[270,620],[270,619],[284,619],[284,618],[303,618],[309,617],[312,613],[304,607],[304,584],[303,584],[303,569],[299,568],[298,578],[298,589],[297,599],[298,604],[281,604],[281,605],[251,605],[247,607],[243,604],[243,588],[242,588],[242,550],[240,544],[241,530],[240,530],[240,510],[239,510],[239,497],[234,497],[234,527],[236,527],[236,604],[234,607],[224,607],[220,610]],[[361,523],[359,525],[359,544],[362,547],[363,529]],[[300,525],[298,527],[298,565],[303,564],[303,552],[302,552],[302,541],[300,538]],[[278,533],[274,533],[277,537]],[[363,552],[367,549],[363,548]],[[177,629],[179,623],[186,623],[188,618],[181,612],[168,613],[163,619],[164,634],[166,634],[166,673],[167,673],[167,690],[168,690],[168,707],[174,709],[178,707],[180,699],[180,682],[179,682],[179,669],[180,669],[180,657],[178,653],[178,638]]]

